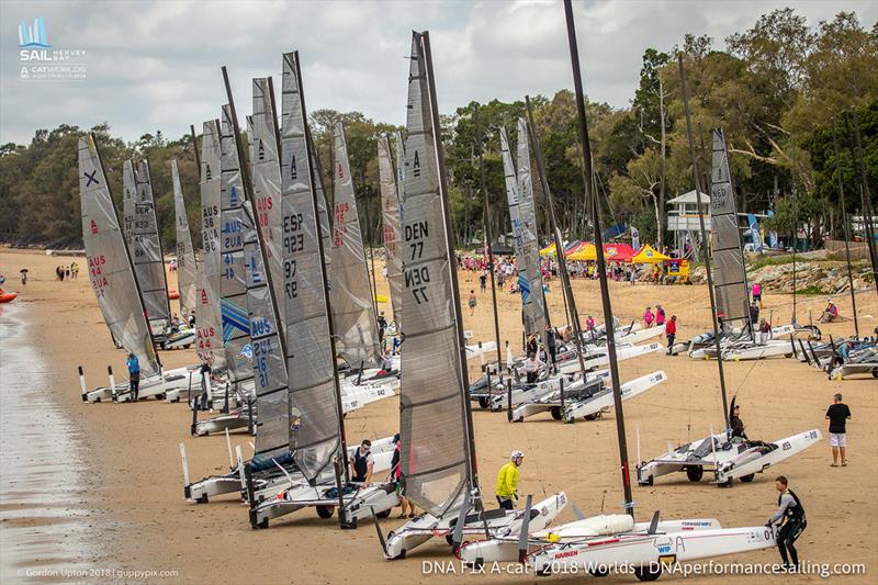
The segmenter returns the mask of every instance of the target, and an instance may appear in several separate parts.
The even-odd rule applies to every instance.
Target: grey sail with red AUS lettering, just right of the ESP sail
[[[345,128],[335,125],[333,205],[333,323],[336,351],[351,368],[380,363],[375,305],[363,249]]]

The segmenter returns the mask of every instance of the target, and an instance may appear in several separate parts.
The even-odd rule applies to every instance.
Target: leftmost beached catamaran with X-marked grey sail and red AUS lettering
[[[82,239],[92,289],[113,339],[137,356],[140,362],[139,397],[162,396],[168,390],[187,384],[189,376],[185,369],[165,372],[162,375],[144,299],[93,135],[79,139],[78,156]],[[83,401],[101,402],[113,398],[124,402],[131,397],[128,385],[117,385],[112,369],[109,372],[109,386],[88,392],[85,374],[79,369]]]

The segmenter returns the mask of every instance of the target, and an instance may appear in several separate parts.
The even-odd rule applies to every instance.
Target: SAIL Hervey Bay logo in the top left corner
[[[24,81],[82,81],[86,49],[67,48],[48,42],[46,20],[19,23],[19,78]]]

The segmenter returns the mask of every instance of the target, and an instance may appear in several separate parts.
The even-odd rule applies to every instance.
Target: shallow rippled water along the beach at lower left
[[[27,345],[25,315],[0,305],[0,582],[81,581],[93,529],[78,432]]]

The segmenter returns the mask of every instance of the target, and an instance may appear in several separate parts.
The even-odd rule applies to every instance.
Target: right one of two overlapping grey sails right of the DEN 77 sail
[[[540,243],[537,237],[537,214],[533,205],[533,183],[530,177],[530,146],[528,126],[524,117],[518,119],[518,220],[520,250],[518,255],[518,289],[525,333],[542,336],[545,330],[545,297],[540,272]]]

